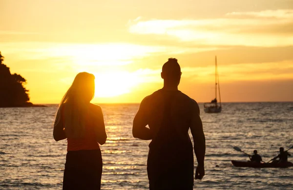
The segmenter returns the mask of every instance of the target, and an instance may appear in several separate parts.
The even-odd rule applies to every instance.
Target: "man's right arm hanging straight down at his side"
[[[197,159],[197,169],[195,178],[202,179],[205,175],[205,154],[206,154],[206,138],[203,130],[203,124],[200,118],[199,107],[196,103],[192,114],[190,131],[194,142],[194,152]]]

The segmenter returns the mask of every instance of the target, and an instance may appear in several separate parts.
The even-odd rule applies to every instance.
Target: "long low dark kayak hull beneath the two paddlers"
[[[293,167],[292,162],[286,162],[281,164],[272,164],[272,163],[255,163],[250,161],[236,161],[231,160],[232,164],[235,167],[249,167],[249,168],[287,168]]]

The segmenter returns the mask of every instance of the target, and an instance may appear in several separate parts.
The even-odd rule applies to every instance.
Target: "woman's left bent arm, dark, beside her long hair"
[[[66,139],[66,134],[63,126],[63,116],[61,114],[61,107],[59,107],[53,129],[53,137],[55,141]]]

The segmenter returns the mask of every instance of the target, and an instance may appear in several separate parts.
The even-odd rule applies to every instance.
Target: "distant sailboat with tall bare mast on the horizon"
[[[215,63],[216,63],[215,99],[213,99],[209,103],[204,103],[204,108],[205,108],[206,113],[220,113],[222,111],[219,75],[218,75],[218,67],[217,67],[217,56],[215,56]],[[219,92],[220,102],[218,102],[218,100],[217,100],[217,90]]]

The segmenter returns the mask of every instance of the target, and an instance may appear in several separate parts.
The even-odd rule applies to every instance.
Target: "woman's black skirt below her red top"
[[[101,190],[102,169],[100,149],[68,151],[63,190]]]

